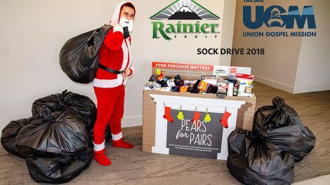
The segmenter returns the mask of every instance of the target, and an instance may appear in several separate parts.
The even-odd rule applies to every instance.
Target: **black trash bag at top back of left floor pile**
[[[32,117],[34,119],[51,118],[51,116],[47,116],[49,113],[65,111],[66,109],[80,114],[88,124],[88,130],[93,128],[97,115],[94,102],[89,97],[67,92],[67,90],[34,101],[32,104]]]

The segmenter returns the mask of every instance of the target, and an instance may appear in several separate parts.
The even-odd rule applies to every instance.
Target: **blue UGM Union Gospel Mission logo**
[[[251,2],[244,0],[244,2]],[[257,1],[256,1],[257,2]],[[258,1],[263,2],[263,1]],[[255,15],[253,20],[252,15]],[[259,29],[269,27],[268,32],[243,32],[243,36],[317,36],[315,16],[313,6],[303,6],[303,10],[298,6],[289,6],[284,9],[282,6],[243,6],[243,22],[249,29]],[[282,32],[273,32],[272,27],[282,28]],[[298,28],[301,32],[293,32],[290,29]],[[304,29],[310,29],[305,32]]]

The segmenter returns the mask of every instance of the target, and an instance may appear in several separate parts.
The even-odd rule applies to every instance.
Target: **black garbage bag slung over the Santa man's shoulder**
[[[77,83],[91,83],[98,70],[98,52],[111,29],[104,25],[68,40],[60,50],[60,67]]]

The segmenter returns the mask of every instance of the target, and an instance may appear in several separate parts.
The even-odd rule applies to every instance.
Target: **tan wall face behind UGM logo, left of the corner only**
[[[285,29],[265,25],[259,29],[248,29],[243,23],[243,6],[297,5],[303,8],[307,0],[265,1],[249,3],[237,0],[235,16],[234,48],[264,48],[265,55],[232,55],[232,65],[251,67],[256,81],[292,93],[301,46],[301,37],[244,37],[243,32],[286,32]],[[255,14],[252,14],[254,19]],[[294,28],[291,31],[301,31]]]

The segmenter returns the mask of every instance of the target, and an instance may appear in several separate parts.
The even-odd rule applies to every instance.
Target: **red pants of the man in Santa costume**
[[[94,91],[98,101],[98,116],[94,125],[94,144],[102,144],[101,148],[103,148],[107,123],[110,123],[112,139],[118,140],[119,137],[122,137],[121,118],[124,114],[125,87],[124,85],[119,85],[116,88],[94,87]]]

